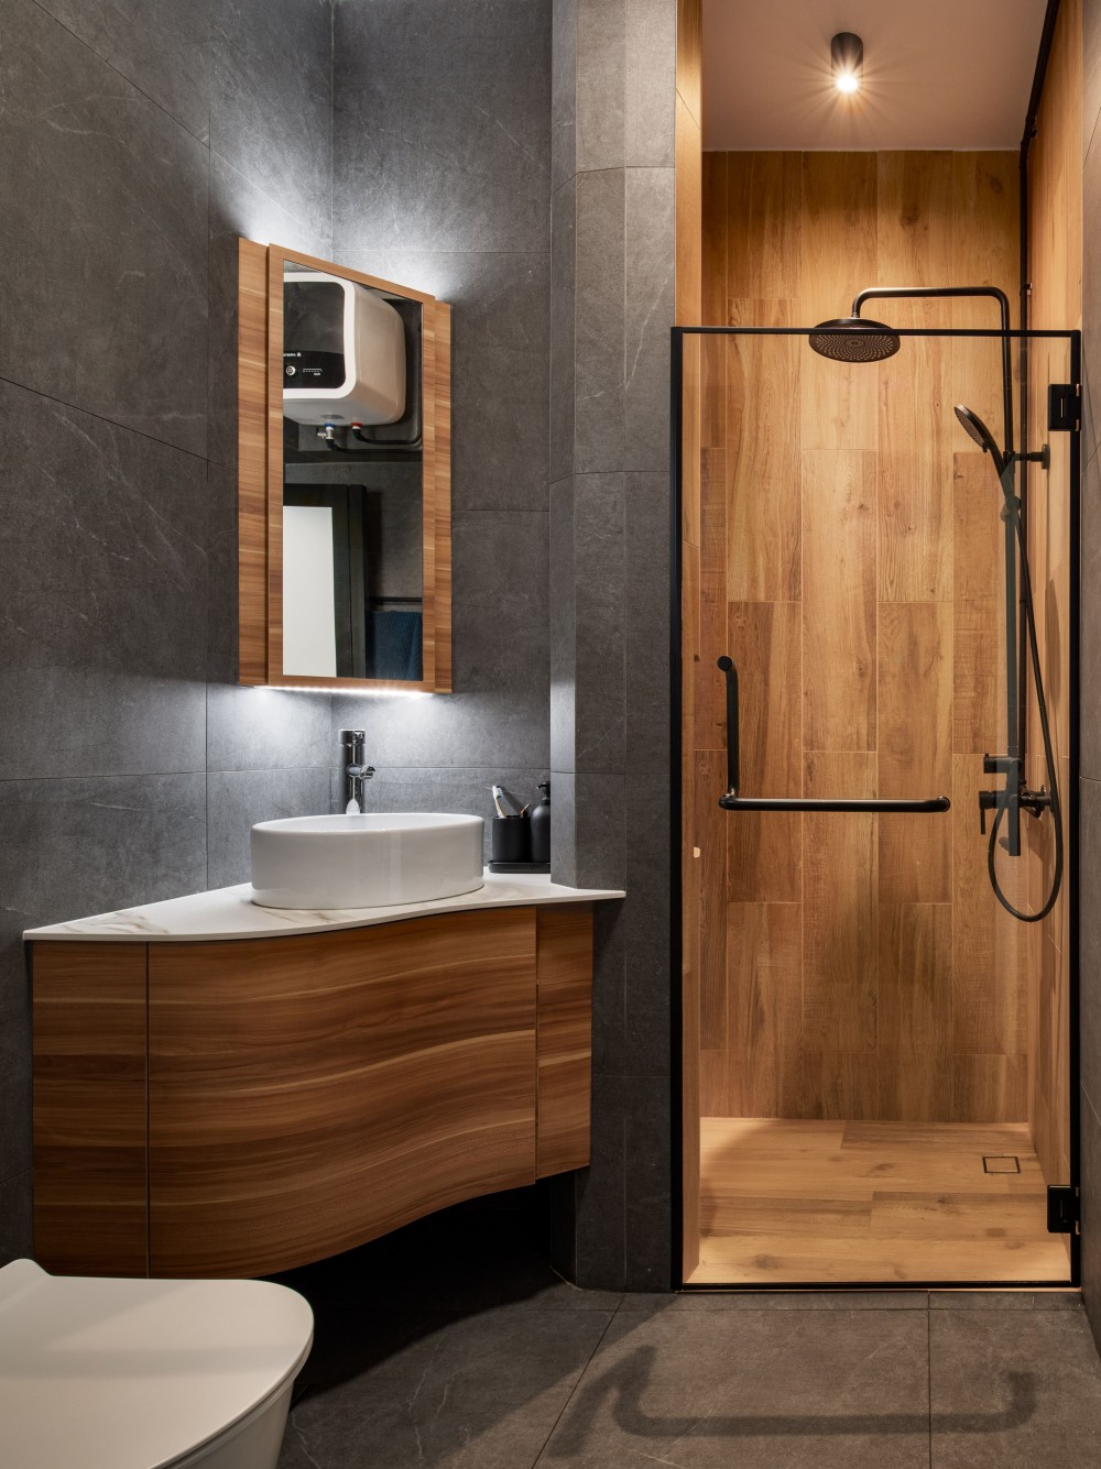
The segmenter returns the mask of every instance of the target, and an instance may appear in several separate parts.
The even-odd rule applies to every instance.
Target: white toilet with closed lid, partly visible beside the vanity
[[[244,1418],[306,1360],[313,1313],[268,1281],[0,1269],[0,1465],[159,1469]]]

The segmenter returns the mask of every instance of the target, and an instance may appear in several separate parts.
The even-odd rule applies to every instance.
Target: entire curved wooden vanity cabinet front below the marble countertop
[[[31,964],[57,1274],[268,1275],[588,1163],[589,903]]]

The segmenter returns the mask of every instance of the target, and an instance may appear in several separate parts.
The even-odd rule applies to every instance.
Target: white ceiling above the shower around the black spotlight
[[[1016,148],[1045,0],[703,0],[704,148]],[[864,41],[831,85],[829,38]]]

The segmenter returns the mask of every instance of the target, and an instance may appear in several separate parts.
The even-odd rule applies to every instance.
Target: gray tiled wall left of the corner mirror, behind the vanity
[[[328,0],[6,0],[0,1260],[29,1252],[22,928],[247,877],[328,699],[234,687],[235,238],[328,253]]]

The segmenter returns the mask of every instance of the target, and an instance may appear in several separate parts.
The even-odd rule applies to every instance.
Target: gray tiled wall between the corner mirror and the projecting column
[[[488,820],[550,767],[550,0],[334,9],[334,257],[453,306],[457,692],[332,701],[375,809]]]

